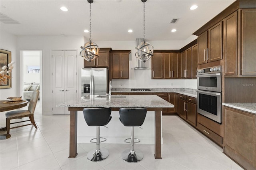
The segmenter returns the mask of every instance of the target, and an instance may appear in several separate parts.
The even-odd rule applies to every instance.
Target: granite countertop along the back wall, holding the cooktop
[[[131,89],[150,89],[151,91],[131,91]],[[187,88],[112,88],[112,93],[179,93],[197,98],[196,89]]]

